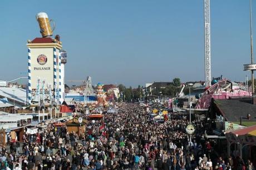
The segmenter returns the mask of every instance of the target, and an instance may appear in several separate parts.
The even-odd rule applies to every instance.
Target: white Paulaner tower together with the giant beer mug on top
[[[51,91],[53,89],[53,100],[57,104],[61,104],[64,100],[64,68],[66,61],[66,51],[62,49],[60,36],[55,39],[51,38],[53,29],[50,26],[52,19],[48,18],[45,12],[40,12],[36,15],[40,27],[42,38],[35,38],[33,41],[28,41],[28,103],[33,100],[45,103],[44,97],[41,96],[41,91]],[[64,56],[64,57],[63,57]],[[38,80],[43,80],[47,86],[45,89],[38,89]],[[36,97],[37,91],[37,97]],[[44,96],[44,95],[43,95]],[[42,99],[41,99],[42,98]]]

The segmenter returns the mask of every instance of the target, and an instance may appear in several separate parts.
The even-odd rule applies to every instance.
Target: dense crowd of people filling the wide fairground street
[[[190,142],[188,123],[184,113],[154,122],[139,104],[123,103],[104,119],[88,120],[80,136],[53,124],[33,137],[24,135],[23,143],[12,142],[9,151],[1,148],[1,169],[254,169],[250,161],[216,152],[216,143],[204,138],[204,121],[193,121]]]

